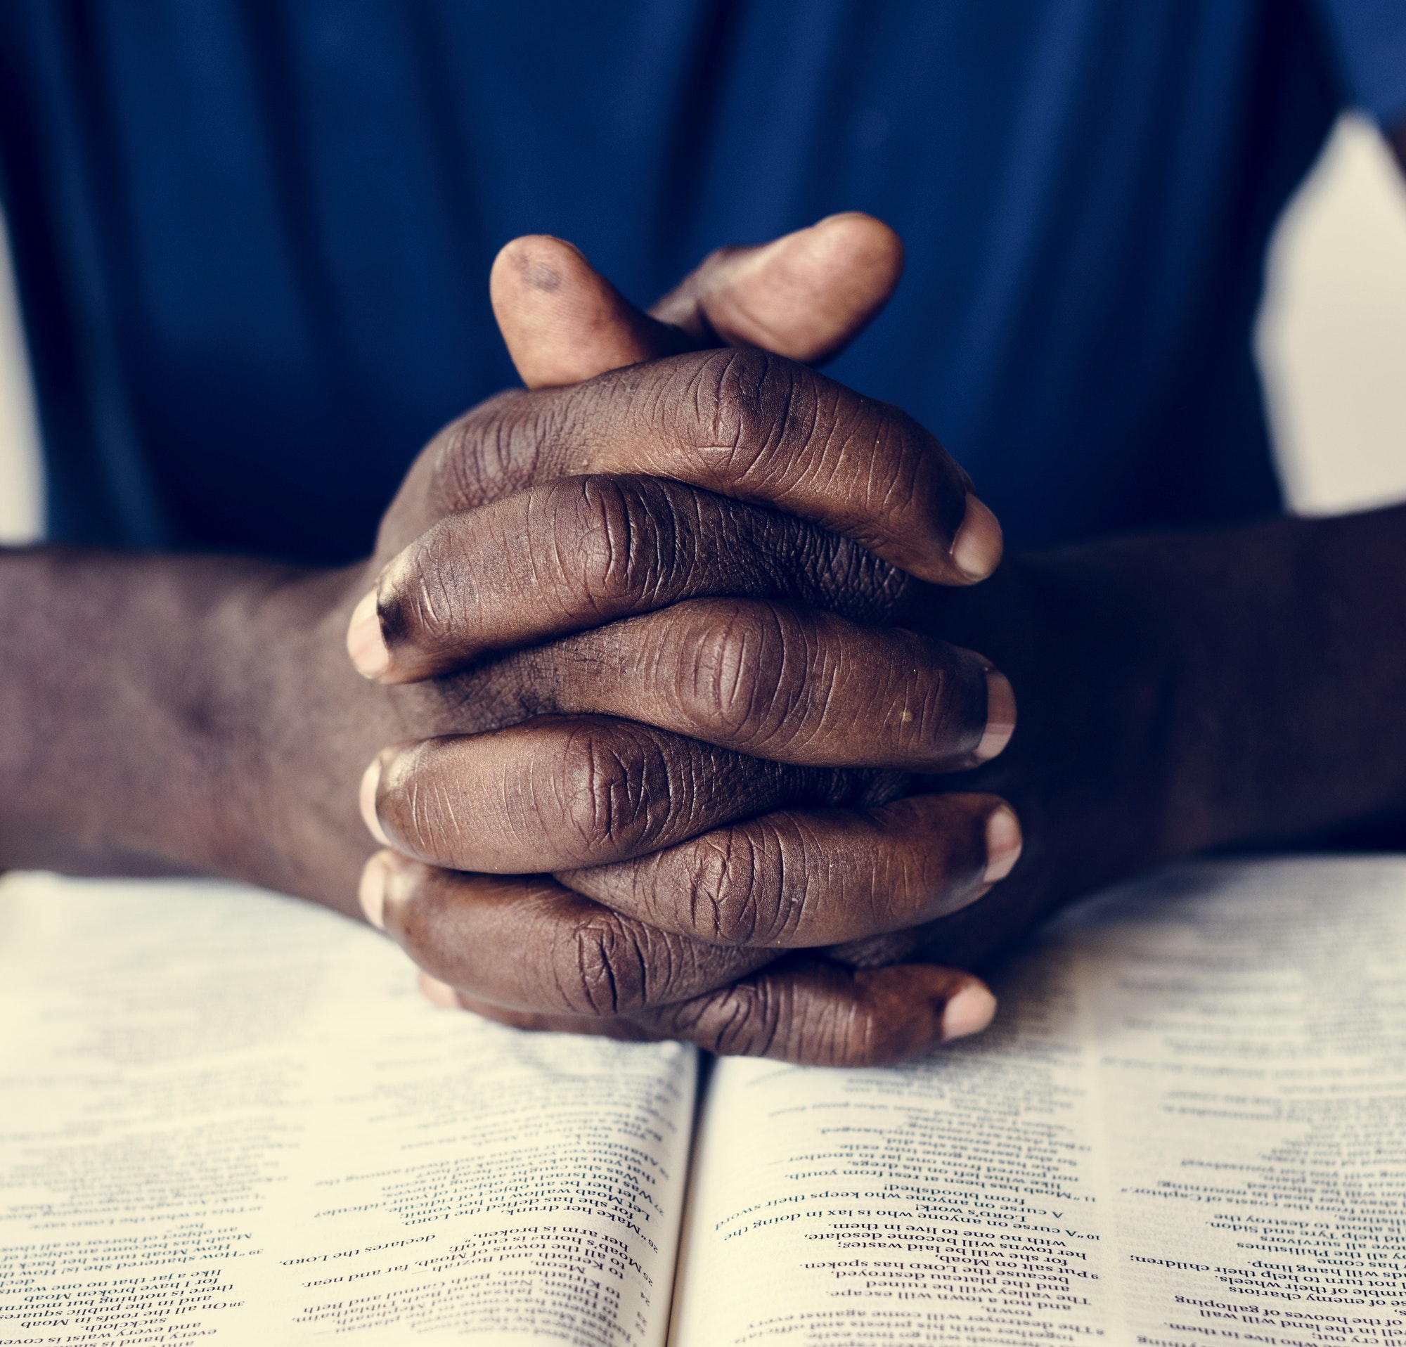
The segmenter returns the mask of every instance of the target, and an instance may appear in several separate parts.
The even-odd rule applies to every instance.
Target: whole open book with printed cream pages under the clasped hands
[[[352,922],[0,883],[0,1344],[1406,1341],[1406,862],[1071,913],[891,1070],[434,1010]]]

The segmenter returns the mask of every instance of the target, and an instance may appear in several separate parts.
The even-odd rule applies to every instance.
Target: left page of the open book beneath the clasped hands
[[[292,900],[11,876],[0,1343],[655,1347],[695,1078]]]

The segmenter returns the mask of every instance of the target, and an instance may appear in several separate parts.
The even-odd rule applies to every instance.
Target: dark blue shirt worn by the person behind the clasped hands
[[[364,554],[513,380],[495,250],[648,302],[839,210],[908,273],[832,367],[1017,544],[1279,496],[1250,328],[1400,0],[0,0],[0,167],[55,540]]]

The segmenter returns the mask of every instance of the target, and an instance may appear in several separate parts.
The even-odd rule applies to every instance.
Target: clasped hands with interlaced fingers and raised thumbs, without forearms
[[[527,392],[449,426],[382,524],[347,645],[456,733],[385,748],[361,904],[432,998],[515,1025],[868,1064],[974,1032],[972,974],[866,966],[983,894],[1015,814],[905,793],[1015,721],[904,626],[1000,529],[936,440],[807,367],[901,270],[868,217],[714,254],[631,308],[568,245],[494,269]]]

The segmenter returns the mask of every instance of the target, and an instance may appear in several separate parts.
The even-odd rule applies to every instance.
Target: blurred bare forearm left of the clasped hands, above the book
[[[0,865],[200,872],[349,901],[370,849],[357,763],[381,717],[364,744],[346,716],[315,724],[325,679],[374,696],[321,630],[336,602],[318,589],[337,582],[232,558],[0,555]]]

